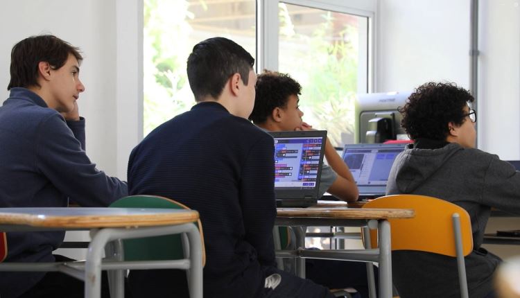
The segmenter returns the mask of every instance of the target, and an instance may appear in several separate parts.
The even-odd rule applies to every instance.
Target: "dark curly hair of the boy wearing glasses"
[[[462,125],[467,116],[464,107],[474,100],[469,91],[453,82],[427,82],[417,87],[406,105],[399,108],[403,115],[401,126],[413,140],[445,140],[448,123]]]

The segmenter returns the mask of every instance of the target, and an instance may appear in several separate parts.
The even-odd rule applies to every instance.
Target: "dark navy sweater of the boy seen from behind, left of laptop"
[[[261,266],[275,265],[273,148],[269,134],[205,102],[160,125],[130,155],[130,194],[199,211],[205,297],[262,295]]]

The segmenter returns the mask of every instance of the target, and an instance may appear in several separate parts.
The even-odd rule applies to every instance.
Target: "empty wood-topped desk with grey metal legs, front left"
[[[110,241],[187,233],[190,259],[159,261],[191,268],[190,292],[202,298],[202,247],[193,222],[198,212],[183,209],[134,208],[0,208],[0,231],[90,230],[92,241],[85,264],[0,263],[0,271],[60,271],[85,281],[85,297],[101,296],[101,270],[147,269],[151,261],[102,261]],[[120,245],[115,245],[120,250]],[[121,251],[116,254],[121,255]],[[157,265],[157,264],[156,264]],[[155,267],[153,264],[152,267]],[[193,273],[191,273],[193,271]],[[122,275],[116,279],[116,295],[123,297]]]

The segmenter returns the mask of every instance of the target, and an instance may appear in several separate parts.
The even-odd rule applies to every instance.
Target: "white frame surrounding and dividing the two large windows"
[[[374,89],[377,0],[286,0],[300,6],[369,17],[367,91]],[[257,0],[257,69],[277,70],[278,0]],[[144,0],[116,0],[116,168],[126,177],[130,151],[143,139]],[[124,179],[124,178],[123,178]]]

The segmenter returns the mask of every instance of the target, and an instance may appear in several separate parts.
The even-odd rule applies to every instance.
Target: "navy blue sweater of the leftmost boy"
[[[127,195],[125,182],[85,154],[85,119],[65,121],[40,96],[12,88],[0,107],[0,207],[105,207]],[[9,261],[54,261],[63,231],[8,232]],[[0,272],[0,297],[16,297],[44,272]]]

